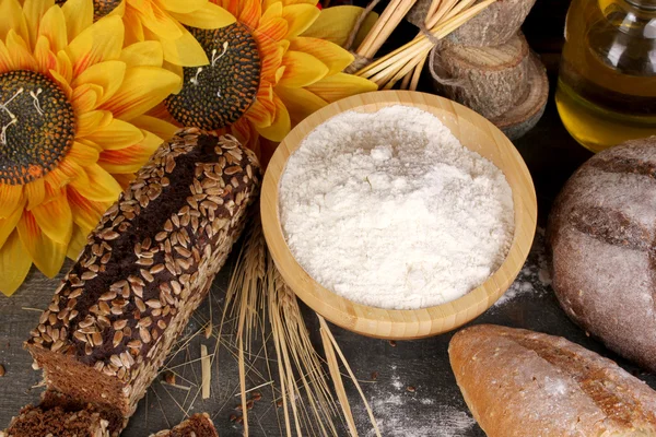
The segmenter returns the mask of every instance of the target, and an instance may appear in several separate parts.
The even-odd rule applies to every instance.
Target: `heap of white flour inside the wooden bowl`
[[[465,295],[501,265],[514,232],[503,173],[432,114],[400,105],[312,131],[288,161],[279,206],[305,271],[379,308]]]

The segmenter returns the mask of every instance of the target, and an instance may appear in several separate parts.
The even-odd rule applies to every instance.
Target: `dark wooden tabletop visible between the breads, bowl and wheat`
[[[566,3],[561,0],[539,0],[527,20],[530,28],[525,28],[526,34],[534,47],[539,47],[540,51],[558,50],[559,38],[562,35],[562,31],[554,29],[553,25],[539,24],[540,16],[562,16]],[[550,29],[549,33],[544,33],[546,29]],[[546,54],[543,59],[550,66],[553,84],[558,59],[549,54]],[[539,125],[516,141],[516,146],[534,177],[540,223],[543,226],[554,196],[572,172],[590,154],[576,144],[564,130],[553,98],[550,99]],[[544,261],[542,238],[538,233],[534,251],[508,292],[516,297],[497,304],[475,323],[499,323],[563,335],[617,359],[639,375],[637,369],[587,338],[565,317],[548,285]],[[124,436],[148,436],[149,433],[178,423],[186,414],[200,411],[207,411],[214,417],[222,436],[238,436],[243,433],[243,426],[230,418],[233,414],[238,415],[235,406],[239,403],[235,397],[238,391],[238,377],[231,320],[223,324],[219,346],[215,335],[220,328],[219,320],[229,276],[230,267],[226,267],[216,279],[210,298],[195,314],[187,328],[185,335],[188,341],[183,343],[177,354],[167,363],[169,368],[180,375],[176,381],[179,387],[156,381],[147,398],[141,401]],[[22,342],[36,326],[39,317],[37,310],[47,305],[58,281],[59,277],[48,280],[39,272],[33,271],[13,297],[0,297],[0,364],[7,370],[7,375],[0,378],[0,428],[9,423],[21,406],[36,402],[43,391],[39,387],[40,371],[32,369],[32,359],[22,349]],[[305,308],[304,312],[308,330],[320,351],[318,321],[312,311]],[[214,335],[206,339],[203,327],[209,320],[212,320]],[[452,334],[396,344],[366,339],[336,327],[333,334],[362,382],[384,436],[484,435],[468,413],[450,371],[447,346]],[[206,344],[210,353],[218,351],[212,371],[212,395],[204,401],[198,395],[200,365],[197,359],[200,356],[200,344]],[[280,409],[276,405],[278,392],[271,383],[276,377],[273,361],[271,347],[263,349],[259,343],[254,344],[247,355],[247,385],[249,388],[262,386],[257,389],[262,393],[262,399],[251,410],[250,434],[254,436],[282,435]],[[640,377],[652,387],[656,387],[656,378],[642,374]],[[360,434],[374,435],[367,425],[366,413],[358,393],[348,382],[347,389]],[[308,430],[306,435],[313,433]],[[339,435],[348,434],[340,427]]]

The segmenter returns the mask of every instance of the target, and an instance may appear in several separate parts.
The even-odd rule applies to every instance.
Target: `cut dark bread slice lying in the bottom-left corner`
[[[92,410],[45,410],[27,405],[0,437],[109,437],[108,422]]]

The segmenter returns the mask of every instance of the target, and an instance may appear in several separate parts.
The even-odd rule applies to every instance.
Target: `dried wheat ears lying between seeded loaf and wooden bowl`
[[[350,411],[348,399],[338,390],[343,413],[340,415],[340,409],[324,368],[324,359],[312,344],[296,296],[284,283],[266,248],[259,211],[248,226],[248,234],[229,284],[224,319],[229,312],[238,320],[237,342],[243,404],[246,403],[247,391],[244,354],[250,349],[256,335],[267,340],[263,332],[265,324],[269,323],[278,358],[278,382],[282,393],[285,435],[288,437],[292,435],[338,436],[340,421],[347,423],[353,436],[358,435],[353,418],[345,414]],[[321,335],[326,335],[325,331],[321,329]],[[344,361],[341,351],[339,354]],[[336,374],[330,365],[329,370],[335,378]],[[358,381],[354,382],[358,385]],[[336,387],[339,388],[340,385],[341,377]],[[371,412],[368,405],[367,410]],[[246,409],[243,414],[244,432],[248,435]],[[373,415],[371,418],[374,421]]]

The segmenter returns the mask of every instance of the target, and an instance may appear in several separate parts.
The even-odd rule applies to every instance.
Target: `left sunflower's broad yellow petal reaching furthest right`
[[[115,118],[130,120],[166,98],[179,83],[180,78],[171,71],[134,67],[126,71],[120,88],[101,109],[112,111]]]

